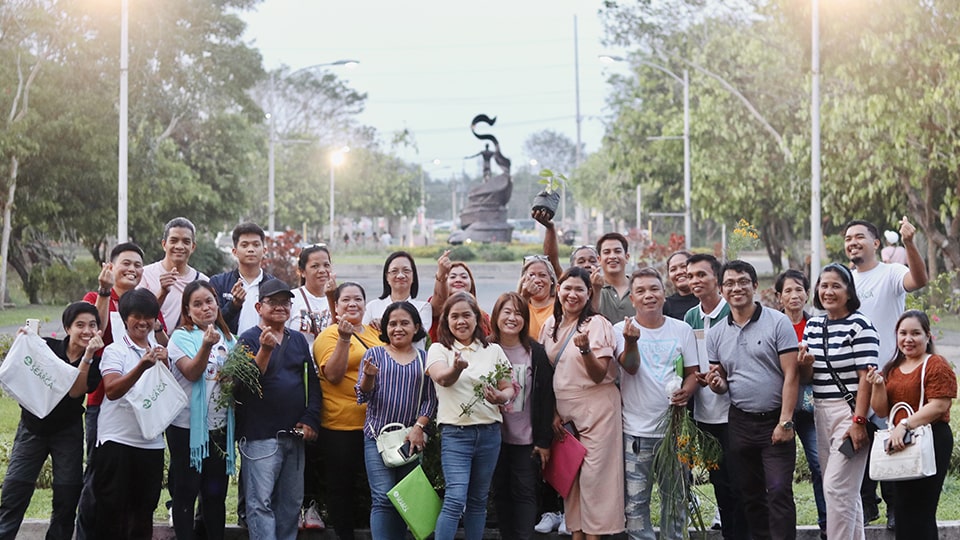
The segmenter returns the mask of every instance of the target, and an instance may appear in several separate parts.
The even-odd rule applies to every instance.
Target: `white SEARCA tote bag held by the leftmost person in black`
[[[0,387],[37,418],[45,418],[70,391],[80,370],[54,354],[43,338],[17,335],[0,366]]]

